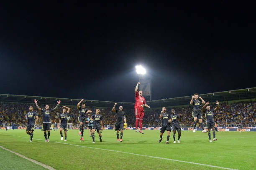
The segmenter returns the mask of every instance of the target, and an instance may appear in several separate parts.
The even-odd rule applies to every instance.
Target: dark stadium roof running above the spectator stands
[[[256,98],[256,87],[246,88],[240,90],[229,90],[224,92],[213,92],[207,94],[200,94],[200,96],[205,100],[205,102],[216,102],[219,100],[223,101],[233,101],[233,100],[244,100],[244,99],[255,99]],[[17,103],[33,103],[34,99],[38,100],[40,104],[56,104],[57,100],[61,100],[62,105],[77,105],[81,99],[68,99],[68,98],[58,98],[58,97],[41,97],[41,96],[27,96],[27,95],[6,95],[0,94],[1,102],[17,102]],[[168,107],[168,106],[178,106],[178,105],[189,105],[192,98],[190,96],[184,97],[174,97],[169,99],[152,100],[146,103],[151,107]],[[113,107],[113,101],[98,101],[98,100],[85,100],[86,105],[90,107]],[[133,102],[116,102],[118,105],[123,105],[124,107],[133,107]]]

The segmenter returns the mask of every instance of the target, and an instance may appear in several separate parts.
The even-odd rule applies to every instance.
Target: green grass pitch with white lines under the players
[[[41,130],[35,130],[32,143],[25,130],[0,130],[1,169],[46,170],[2,147],[56,170],[255,169],[256,132],[219,132],[218,140],[209,143],[207,133],[182,131],[181,143],[173,143],[171,133],[169,144],[167,133],[159,143],[159,130],[143,132],[124,130],[123,142],[117,142],[114,130],[103,130],[102,143],[95,133],[92,144],[88,130],[83,142],[78,130],[67,132],[67,142],[60,140],[59,130],[51,130],[49,143]]]

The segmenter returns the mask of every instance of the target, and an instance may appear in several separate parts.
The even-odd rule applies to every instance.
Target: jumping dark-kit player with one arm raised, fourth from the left
[[[78,116],[78,120],[80,122],[80,126],[79,126],[79,135],[81,135],[80,140],[83,140],[83,135],[84,135],[84,126],[86,125],[86,117],[88,113],[91,113],[91,110],[88,110],[87,108],[85,108],[85,102],[83,102],[84,99],[81,99],[81,101],[77,104],[77,109],[79,110],[79,116]],[[82,103],[82,107],[80,106],[80,104]]]

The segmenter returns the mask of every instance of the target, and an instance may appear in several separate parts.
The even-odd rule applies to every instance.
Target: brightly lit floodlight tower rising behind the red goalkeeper
[[[141,82],[138,90],[142,90],[143,97],[146,99],[146,101],[151,101],[152,100],[152,78],[151,78],[151,75],[146,74],[146,69],[144,67],[142,67],[141,65],[136,66],[136,72],[139,75],[139,82]]]

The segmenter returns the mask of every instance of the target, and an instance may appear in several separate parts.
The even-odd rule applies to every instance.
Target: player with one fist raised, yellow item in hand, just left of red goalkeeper
[[[113,106],[112,111],[116,113],[116,122],[115,122],[115,131],[118,142],[123,142],[123,128],[127,128],[125,112],[123,111],[123,106],[119,106],[119,110],[115,110],[115,105]],[[123,121],[125,123],[123,123]],[[120,140],[119,140],[119,130],[120,130]]]

